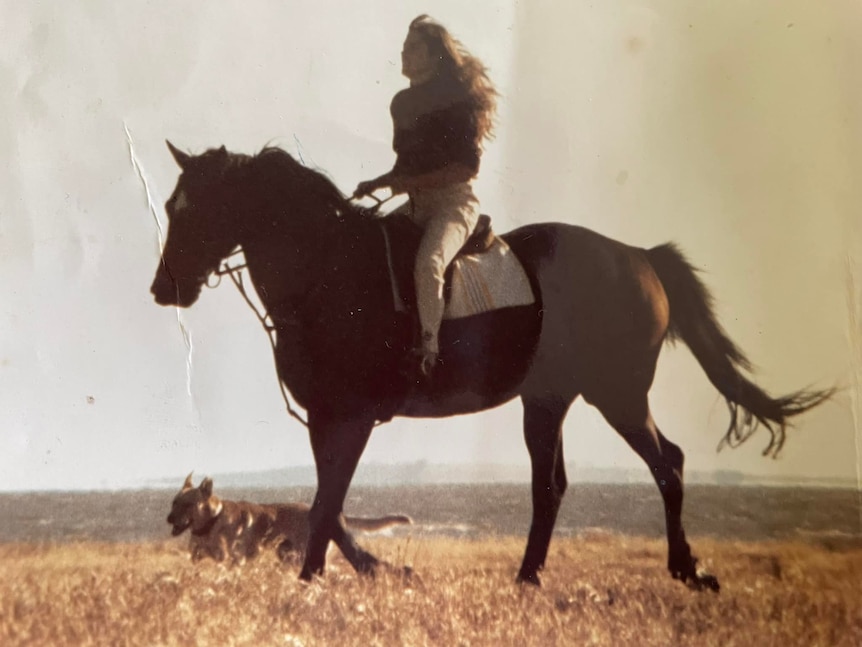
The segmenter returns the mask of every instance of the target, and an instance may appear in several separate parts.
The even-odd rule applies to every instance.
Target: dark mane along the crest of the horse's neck
[[[304,201],[315,211],[320,209],[339,218],[358,213],[357,207],[323,172],[304,166],[278,146],[265,146],[246,159],[247,170],[267,191],[283,194],[294,203]]]

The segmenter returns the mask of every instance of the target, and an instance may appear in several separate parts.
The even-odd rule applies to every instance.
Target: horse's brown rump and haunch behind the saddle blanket
[[[541,301],[542,331],[525,395],[638,371],[652,379],[667,330],[664,289],[645,250],[585,227],[544,223],[504,235]],[[589,378],[587,378],[589,376]]]

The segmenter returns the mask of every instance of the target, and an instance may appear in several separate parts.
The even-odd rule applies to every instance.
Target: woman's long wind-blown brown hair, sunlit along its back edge
[[[488,78],[488,69],[470,54],[461,42],[440,23],[422,14],[410,23],[428,45],[428,52],[440,61],[440,76],[456,82],[475,105],[478,143],[494,133],[497,89]]]

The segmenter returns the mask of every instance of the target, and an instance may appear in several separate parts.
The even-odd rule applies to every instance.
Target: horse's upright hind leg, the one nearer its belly
[[[570,402],[524,399],[524,439],[533,468],[533,521],[518,581],[539,585],[548,545],[566,491],[562,424]]]

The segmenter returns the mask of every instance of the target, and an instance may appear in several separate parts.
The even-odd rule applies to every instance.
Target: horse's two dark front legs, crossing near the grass
[[[371,572],[378,564],[376,557],[356,544],[341,517],[344,497],[373,427],[373,419],[335,418],[309,412],[308,430],[317,467],[317,494],[308,516],[308,547],[300,579],[310,580],[313,575],[323,574],[330,540],[358,572]]]

